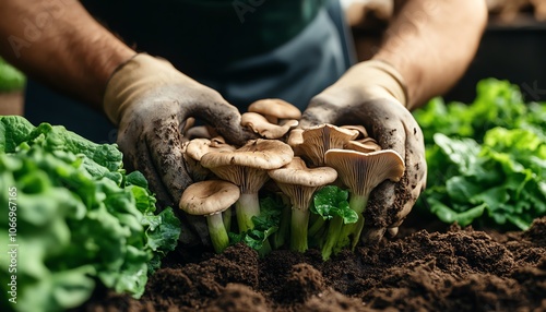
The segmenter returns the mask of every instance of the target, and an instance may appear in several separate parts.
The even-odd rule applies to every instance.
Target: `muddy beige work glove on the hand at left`
[[[182,191],[192,182],[180,143],[181,129],[189,117],[213,125],[230,143],[246,141],[236,107],[169,62],[144,53],[112,74],[104,110],[119,128],[118,144],[124,165],[144,173],[159,205],[175,211]]]

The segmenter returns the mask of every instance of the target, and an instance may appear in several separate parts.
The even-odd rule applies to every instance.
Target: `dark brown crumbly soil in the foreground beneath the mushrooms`
[[[322,262],[319,251],[177,250],[141,300],[85,311],[546,311],[546,217],[525,232],[401,232]]]

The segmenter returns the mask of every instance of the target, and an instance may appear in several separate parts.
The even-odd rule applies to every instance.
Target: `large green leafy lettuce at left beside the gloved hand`
[[[97,280],[143,293],[147,274],[176,247],[180,224],[170,208],[155,213],[146,180],[126,175],[121,159],[115,145],[62,127],[0,117],[0,203],[13,207],[0,216],[0,229],[16,228],[0,243],[17,245],[16,265],[0,259],[2,280],[16,277],[17,302],[2,311],[74,308]],[[11,287],[0,288],[9,302]]]

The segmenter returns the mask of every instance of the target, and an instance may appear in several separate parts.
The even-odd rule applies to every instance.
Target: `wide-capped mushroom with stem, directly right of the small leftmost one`
[[[290,146],[278,140],[251,140],[235,151],[210,152],[201,165],[221,179],[240,188],[235,204],[239,231],[253,228],[252,217],[260,215],[258,191],[268,181],[268,170],[281,168],[294,157]]]

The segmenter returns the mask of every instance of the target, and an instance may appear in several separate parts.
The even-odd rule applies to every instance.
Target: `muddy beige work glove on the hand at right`
[[[372,60],[351,68],[336,83],[313,97],[304,111],[302,128],[332,123],[361,124],[383,149],[405,159],[400,182],[383,181],[370,194],[364,213],[364,240],[377,243],[397,232],[425,188],[427,167],[423,133],[405,104],[402,76],[391,65]]]

